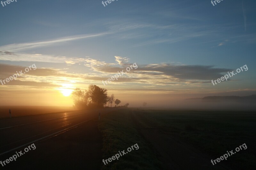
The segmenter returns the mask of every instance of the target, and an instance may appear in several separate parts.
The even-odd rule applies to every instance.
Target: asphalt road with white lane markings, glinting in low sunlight
[[[114,108],[71,111],[0,120],[0,156],[74,129]]]

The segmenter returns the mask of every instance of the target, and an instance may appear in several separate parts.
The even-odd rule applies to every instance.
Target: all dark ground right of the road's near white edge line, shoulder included
[[[120,109],[35,143],[2,169],[255,169],[253,112]],[[24,131],[24,133],[28,133]],[[138,149],[127,152],[137,144]],[[247,149],[212,165],[227,151]],[[24,148],[16,151],[24,151]],[[118,160],[106,160],[125,151]],[[0,156],[5,160],[15,153]]]

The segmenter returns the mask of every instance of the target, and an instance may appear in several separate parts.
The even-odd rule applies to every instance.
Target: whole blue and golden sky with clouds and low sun
[[[210,0],[0,4],[0,79],[36,66],[0,84],[0,105],[72,106],[72,90],[90,84],[132,107],[256,94],[255,5],[254,0],[214,6]],[[137,68],[102,83],[132,64]],[[248,70],[228,81],[211,82],[245,65]]]

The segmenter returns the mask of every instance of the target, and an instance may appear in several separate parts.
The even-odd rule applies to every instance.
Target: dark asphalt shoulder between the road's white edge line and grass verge
[[[1,169],[100,169],[102,138],[97,123],[91,120],[56,137],[34,143],[35,150]],[[24,148],[17,151],[23,152]],[[1,160],[13,154],[8,155],[0,157]]]

